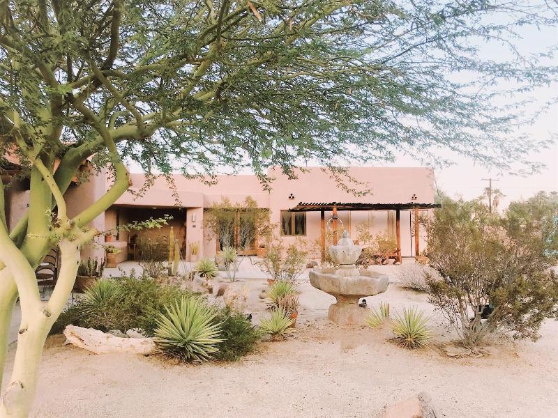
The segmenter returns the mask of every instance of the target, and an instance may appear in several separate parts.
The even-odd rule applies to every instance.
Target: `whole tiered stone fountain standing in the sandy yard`
[[[345,231],[338,245],[329,247],[329,254],[339,268],[310,270],[310,284],[337,299],[329,307],[328,317],[338,325],[363,324],[370,311],[359,307],[359,299],[384,293],[388,288],[385,274],[356,268],[361,251],[362,247],[354,245]]]

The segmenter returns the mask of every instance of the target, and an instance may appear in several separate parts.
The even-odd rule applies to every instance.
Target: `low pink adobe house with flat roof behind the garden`
[[[5,204],[8,228],[11,229],[27,208],[29,182],[12,181],[19,171],[17,164],[10,163],[10,167],[2,169],[3,183],[10,183]],[[86,162],[82,170],[89,170]],[[414,219],[419,215],[428,215],[436,206],[431,169],[352,167],[349,176],[358,180],[359,185],[349,184],[349,187],[365,190],[368,194],[364,196],[355,196],[340,189],[331,173],[321,167],[305,170],[299,173],[298,178],[289,180],[271,169],[269,174],[275,178],[271,191],[264,190],[258,178],[252,175],[218,176],[214,185],[174,175],[174,191],[164,178],[158,178],[153,187],[140,196],[137,192],[142,189],[145,176],[132,173],[128,192],[91,224],[99,231],[107,231],[135,220],[170,215],[169,226],[173,226],[175,237],[183,249],[187,249],[190,242],[198,242],[200,257],[214,256],[218,242],[209,239],[203,231],[204,210],[224,198],[232,203],[241,203],[250,196],[259,208],[269,210],[271,222],[277,225],[276,233],[285,242],[304,238],[309,244],[318,243],[322,251],[317,251],[316,258],[323,257],[326,234],[331,235],[335,225],[339,230],[347,229],[354,240],[363,224],[367,225],[372,235],[384,233],[395,238],[398,242],[395,255],[399,259],[420,254],[425,248],[425,233],[417,227]],[[65,194],[70,216],[77,215],[96,201],[111,183],[105,173],[93,171],[85,183],[78,184],[75,180]],[[169,226],[141,233],[168,236]],[[133,245],[137,236],[133,235],[136,234],[121,230],[110,242],[110,245],[122,250],[116,254],[119,262],[137,256]],[[83,258],[103,257],[103,237],[96,240],[99,245],[82,250]],[[183,255],[189,257],[189,251],[183,251]]]

